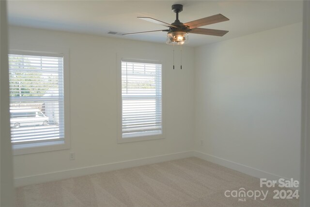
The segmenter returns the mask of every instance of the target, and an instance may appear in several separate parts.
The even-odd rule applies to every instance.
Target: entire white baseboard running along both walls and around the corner
[[[284,179],[289,180],[288,178],[285,178],[279,175],[267,173],[259,169],[248,167],[246,165],[239,164],[239,163],[227,160],[227,159],[218,158],[213,155],[208,155],[203,152],[186,151],[186,152],[179,152],[179,153],[174,153],[174,154],[160,155],[160,156],[155,156],[155,157],[108,163],[108,164],[91,166],[91,167],[77,168],[77,169],[71,169],[71,170],[53,172],[53,173],[47,173],[47,174],[41,174],[41,175],[17,177],[14,179],[15,181],[14,186],[21,187],[21,186],[26,186],[26,185],[44,183],[44,182],[55,181],[55,180],[62,180],[66,178],[78,177],[78,176],[83,176],[83,175],[91,175],[95,173],[103,173],[103,172],[108,172],[108,171],[113,171],[113,170],[120,170],[120,169],[125,169],[125,168],[130,168],[130,167],[137,167],[141,165],[148,165],[148,164],[154,164],[158,162],[170,161],[174,159],[183,159],[183,158],[189,158],[189,157],[197,157],[200,159],[204,159],[206,161],[210,161],[210,162],[222,165],[224,167],[227,167],[227,168],[230,168],[230,169],[233,169],[233,170],[236,170],[241,173],[245,173],[247,175],[251,175],[257,178],[266,178],[267,180],[279,180],[279,178],[284,178]]]

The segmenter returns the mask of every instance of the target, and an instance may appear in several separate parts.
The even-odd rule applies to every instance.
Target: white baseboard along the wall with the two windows
[[[193,151],[179,152],[174,154],[160,155],[142,159],[126,160],[121,162],[108,163],[103,165],[71,169],[60,172],[53,172],[41,175],[33,175],[27,177],[17,177],[14,179],[14,186],[21,187],[26,185],[44,183],[55,180],[62,180],[71,177],[91,175],[96,173],[120,170],[124,168],[137,167],[141,165],[154,164],[158,162],[170,161],[174,159],[183,159],[193,157]]]

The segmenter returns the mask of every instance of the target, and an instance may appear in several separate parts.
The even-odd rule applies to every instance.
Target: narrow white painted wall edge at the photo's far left
[[[8,29],[6,1],[0,1],[0,206],[14,207],[13,160],[10,140]]]

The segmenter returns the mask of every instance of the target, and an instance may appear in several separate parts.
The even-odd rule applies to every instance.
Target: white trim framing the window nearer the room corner
[[[118,118],[117,118],[117,143],[130,143],[130,142],[140,142],[140,141],[147,141],[147,140],[157,140],[157,139],[165,139],[165,93],[164,93],[164,62],[162,60],[150,60],[148,57],[143,55],[142,59],[135,58],[131,55],[124,55],[117,54],[117,102],[118,102]],[[122,137],[122,61],[124,62],[135,62],[135,63],[150,63],[150,64],[161,64],[161,98],[162,98],[162,133],[157,135],[144,135],[144,136],[137,136],[137,137]]]

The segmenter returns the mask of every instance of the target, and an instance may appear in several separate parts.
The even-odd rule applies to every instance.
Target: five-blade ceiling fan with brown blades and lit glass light
[[[215,24],[218,22],[229,20],[227,17],[225,17],[221,14],[204,17],[201,19],[197,19],[194,21],[187,22],[187,23],[182,23],[179,20],[179,13],[183,11],[183,5],[182,4],[173,4],[171,9],[176,14],[176,19],[171,24],[168,24],[168,23],[163,22],[163,21],[159,21],[159,20],[151,18],[151,17],[138,17],[138,18],[168,27],[169,29],[167,29],[167,30],[154,30],[154,31],[146,31],[146,32],[157,32],[157,31],[168,32],[167,44],[169,44],[169,45],[183,45],[183,44],[185,44],[188,40],[188,33],[223,36],[224,34],[226,34],[228,32],[225,30],[213,30],[213,29],[199,28],[201,26],[205,26],[205,25],[209,25],[209,24]],[[145,32],[126,33],[123,35],[139,34],[139,33],[145,33]]]

